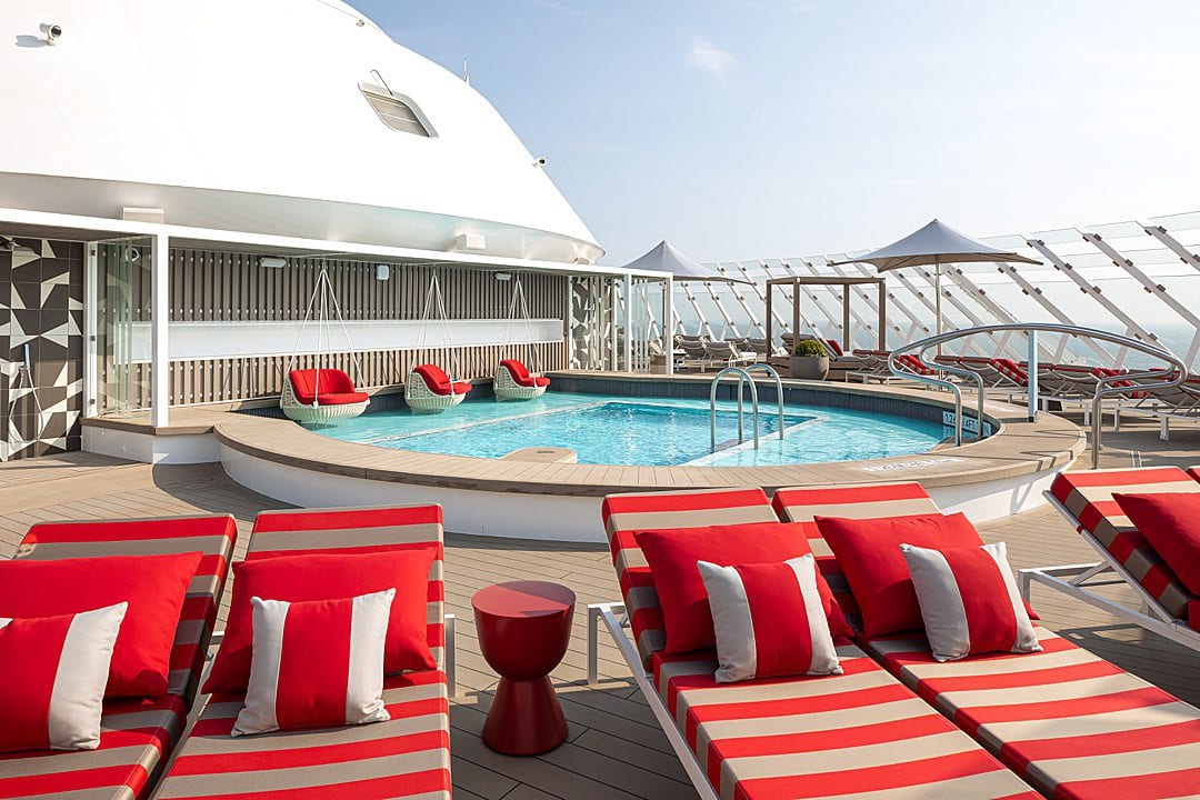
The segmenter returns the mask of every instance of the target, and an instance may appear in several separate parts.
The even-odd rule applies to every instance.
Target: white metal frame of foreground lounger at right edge
[[[1057,509],[1058,513],[1066,517],[1069,523],[1078,524],[1075,515],[1060,503],[1058,498],[1050,494],[1050,492],[1045,492],[1045,497],[1050,505]],[[1080,530],[1079,535],[1099,553],[1103,560],[1096,564],[1068,564],[1063,566],[1018,570],[1016,581],[1021,597],[1028,601],[1032,584],[1040,583],[1044,587],[1056,589],[1075,600],[1084,601],[1088,606],[1120,616],[1128,622],[1133,622],[1147,631],[1164,636],[1172,642],[1178,642],[1183,646],[1200,652],[1200,631],[1193,631],[1183,620],[1177,619],[1163,608],[1158,600],[1146,591],[1138,578],[1133,577],[1133,575],[1118,564],[1108,548],[1098,542],[1091,533]],[[1120,579],[1098,579],[1110,572],[1116,573]],[[1104,597],[1092,591],[1093,588],[1120,584],[1128,585],[1141,599],[1141,610],[1135,610],[1110,597]]]

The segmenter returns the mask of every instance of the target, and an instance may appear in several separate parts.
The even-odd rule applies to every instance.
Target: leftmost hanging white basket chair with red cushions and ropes
[[[320,297],[319,306],[317,297]],[[283,391],[280,393],[280,408],[289,420],[295,420],[302,425],[314,425],[319,422],[332,422],[334,420],[347,420],[359,416],[371,398],[366,392],[359,391],[354,380],[346,372],[334,367],[316,367],[312,369],[294,369],[296,354],[304,341],[305,327],[313,317],[313,308],[317,308],[317,357],[319,365],[323,359],[331,360],[329,353],[330,337],[326,326],[330,323],[330,312],[336,315],[342,325],[342,333],[346,337],[346,349],[352,354],[354,368],[361,377],[358,356],[350,345],[349,331],[346,330],[346,320],[342,319],[342,309],[334,295],[334,287],[329,281],[328,270],[322,266],[320,275],[317,276],[317,285],[312,297],[308,299],[308,308],[305,311],[304,321],[300,324],[300,333],[296,336],[296,345],[288,361],[287,374],[283,380]]]

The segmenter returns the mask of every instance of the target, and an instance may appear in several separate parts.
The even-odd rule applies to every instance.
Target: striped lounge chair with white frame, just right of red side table
[[[611,495],[604,518],[625,602],[588,608],[589,678],[602,622],[704,800],[1038,796],[848,639],[845,673],[822,678],[716,684],[713,652],[664,655],[634,531],[773,522],[761,489]]]

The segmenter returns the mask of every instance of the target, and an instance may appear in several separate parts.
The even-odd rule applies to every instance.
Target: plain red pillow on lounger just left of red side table
[[[433,669],[426,607],[434,548],[390,553],[312,553],[242,561],[233,567],[233,600],[224,638],[204,693],[244,692],[250,680],[253,622],[251,597],[304,602],[396,590],[388,622],[384,669]]]

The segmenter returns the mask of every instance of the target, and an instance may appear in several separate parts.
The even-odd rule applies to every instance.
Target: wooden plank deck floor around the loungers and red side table
[[[1109,437],[1105,465],[1200,462],[1200,429],[1182,429],[1164,446],[1148,427]],[[254,515],[281,504],[248,492],[216,465],[150,467],[88,453],[0,465],[0,555],[11,555],[28,527],[44,519],[228,512],[242,541]],[[596,521],[599,524],[599,521]],[[1094,560],[1051,510],[1012,517],[984,529],[1007,541],[1014,566]],[[479,654],[470,595],[499,581],[558,581],[575,589],[581,608],[566,658],[553,678],[570,722],[570,740],[539,758],[493,753],[479,739],[496,675]],[[1034,590],[1044,624],[1192,703],[1200,703],[1200,658],[1154,634],[1061,595]],[[228,593],[227,593],[228,597]],[[586,685],[583,603],[619,599],[606,549],[448,535],[446,607],[458,614],[461,697],[451,711],[456,798],[476,800],[673,800],[696,794],[665,736],[629,680],[616,649],[604,643],[601,685]]]

